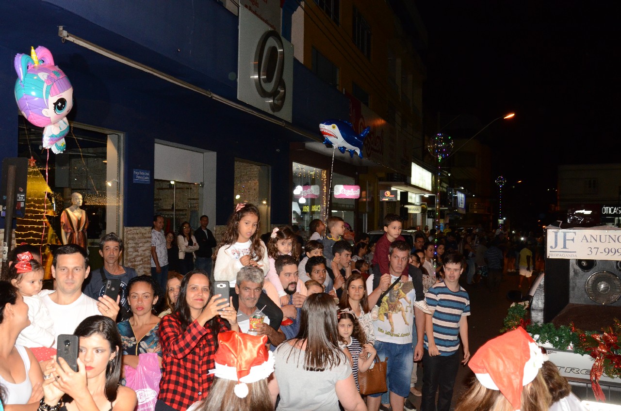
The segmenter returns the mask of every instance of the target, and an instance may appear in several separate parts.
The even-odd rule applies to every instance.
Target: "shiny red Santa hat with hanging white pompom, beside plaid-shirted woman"
[[[254,336],[235,331],[218,334],[218,350],[215,352],[215,368],[209,374],[237,381],[235,395],[248,395],[247,382],[267,378],[274,371],[274,358],[265,348],[267,336]]]

